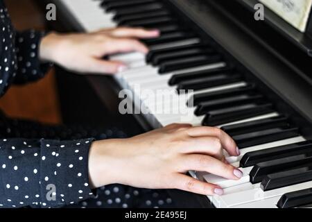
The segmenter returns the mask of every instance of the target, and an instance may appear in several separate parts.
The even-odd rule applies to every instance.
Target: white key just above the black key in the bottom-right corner
[[[274,198],[274,197],[281,196],[289,192],[298,191],[301,189],[308,189],[312,187],[312,182],[311,181],[304,182],[302,184],[291,185],[291,186],[282,187],[279,189],[273,189],[271,191],[263,191],[259,187],[259,185],[254,185],[253,186],[254,188],[248,189],[250,188],[248,187],[248,184],[239,185],[239,186],[236,186],[235,188],[236,190],[239,190],[240,187],[241,189],[245,189],[245,190],[234,192],[233,189],[231,189],[232,187],[228,189],[229,191],[227,191],[227,189],[224,190],[225,194],[220,197],[222,198],[222,203],[224,207],[234,207],[236,205],[252,203],[258,200]]]

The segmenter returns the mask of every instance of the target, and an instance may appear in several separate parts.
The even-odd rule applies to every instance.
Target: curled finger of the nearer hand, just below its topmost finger
[[[191,137],[188,146],[182,148],[182,153],[211,155],[221,161],[225,159],[222,144],[217,137]]]

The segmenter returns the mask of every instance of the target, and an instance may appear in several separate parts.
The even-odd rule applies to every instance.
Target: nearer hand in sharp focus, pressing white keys
[[[234,140],[218,128],[172,124],[130,139],[94,142],[90,150],[90,180],[95,187],[119,183],[149,189],[182,189],[222,195],[218,185],[186,176],[206,171],[230,180],[243,173],[224,161],[223,149],[239,155]]]

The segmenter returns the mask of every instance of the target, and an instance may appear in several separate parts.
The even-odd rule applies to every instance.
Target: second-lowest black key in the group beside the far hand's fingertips
[[[184,58],[184,57],[191,57],[191,56],[200,56],[200,55],[207,55],[214,53],[214,50],[211,48],[190,48],[190,49],[183,49],[173,51],[171,53],[162,53],[157,56],[154,56],[152,60],[152,65],[157,66],[159,63],[166,62],[166,60],[173,60],[177,58]]]

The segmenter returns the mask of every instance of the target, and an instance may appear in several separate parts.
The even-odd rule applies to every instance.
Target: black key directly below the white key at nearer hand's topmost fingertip
[[[285,146],[277,146],[273,148],[264,149],[261,151],[254,151],[246,153],[241,159],[241,167],[252,167],[259,162],[267,162],[270,160],[277,160],[284,157],[291,157],[303,153],[312,152],[312,142],[305,141],[295,144],[288,144]]]

